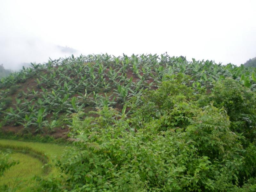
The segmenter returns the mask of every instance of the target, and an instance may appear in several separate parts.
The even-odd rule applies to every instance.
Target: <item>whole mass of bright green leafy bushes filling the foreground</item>
[[[255,145],[251,143],[244,149],[240,142],[243,137],[230,130],[226,110],[214,107],[214,103],[200,107],[197,100],[200,96],[194,96],[195,91],[183,77],[146,92],[142,103],[137,105],[138,112],[130,110],[134,112],[132,117],[108,107],[98,109],[94,112],[96,116],[84,120],[75,115],[72,126],[75,148],[57,163],[68,176],[65,188],[74,191],[253,189]],[[143,120],[148,114],[151,116]]]

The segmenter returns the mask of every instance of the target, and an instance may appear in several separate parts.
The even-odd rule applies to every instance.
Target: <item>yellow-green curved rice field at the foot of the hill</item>
[[[23,180],[21,182],[21,190],[24,191],[29,185],[33,185],[35,181],[32,180],[32,178],[34,176],[48,177],[49,175],[58,174],[58,169],[54,166],[52,166],[50,172],[44,172],[42,168],[45,162],[44,157],[47,157],[49,164],[53,164],[53,160],[61,156],[66,146],[51,143],[1,139],[0,148],[11,148],[12,154],[10,155],[10,160],[20,162],[11,167],[0,177],[0,185],[8,184],[8,186],[12,188]]]

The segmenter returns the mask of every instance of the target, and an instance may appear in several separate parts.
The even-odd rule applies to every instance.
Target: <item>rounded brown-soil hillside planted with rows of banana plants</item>
[[[122,111],[131,97],[155,90],[165,79],[189,75],[198,92],[211,92],[213,83],[232,77],[255,90],[255,70],[184,57],[108,54],[49,60],[32,64],[0,82],[2,130],[66,137],[71,116],[103,106]],[[127,108],[128,109],[128,108]],[[128,111],[128,110],[127,110]]]

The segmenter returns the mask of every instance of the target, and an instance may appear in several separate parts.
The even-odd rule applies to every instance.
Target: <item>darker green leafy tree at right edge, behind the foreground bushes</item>
[[[214,86],[211,100],[214,106],[225,108],[231,130],[243,133],[250,142],[256,139],[256,94],[232,79]]]

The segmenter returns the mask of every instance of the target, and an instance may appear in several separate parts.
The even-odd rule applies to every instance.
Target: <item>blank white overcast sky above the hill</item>
[[[240,65],[256,57],[255,0],[0,0],[0,64],[80,54],[162,54]]]

